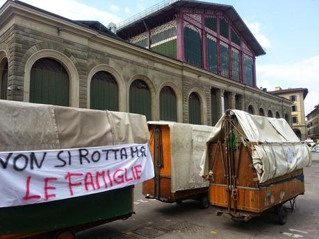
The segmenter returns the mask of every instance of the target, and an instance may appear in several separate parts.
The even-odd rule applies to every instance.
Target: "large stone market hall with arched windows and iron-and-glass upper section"
[[[232,6],[177,0],[144,13],[116,32],[6,1],[1,99],[203,125],[229,108],[290,121],[291,101],[256,87],[265,51]]]

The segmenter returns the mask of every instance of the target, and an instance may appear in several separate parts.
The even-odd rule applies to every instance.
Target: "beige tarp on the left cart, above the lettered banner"
[[[147,143],[145,116],[0,100],[0,151]]]

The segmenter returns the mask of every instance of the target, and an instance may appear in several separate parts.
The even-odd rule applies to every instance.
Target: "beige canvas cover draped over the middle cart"
[[[200,161],[206,141],[214,127],[167,121],[149,121],[149,125],[170,127],[171,190],[172,192],[208,187],[199,176]]]

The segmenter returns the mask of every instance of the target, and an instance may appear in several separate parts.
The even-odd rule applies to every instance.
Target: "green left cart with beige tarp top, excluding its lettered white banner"
[[[85,148],[149,140],[146,118],[137,114],[9,100],[0,100],[0,107],[3,152],[26,150],[25,145],[27,150],[47,150],[46,147]],[[124,220],[132,213],[133,186],[52,202],[1,207],[0,239],[74,239],[77,231]]]

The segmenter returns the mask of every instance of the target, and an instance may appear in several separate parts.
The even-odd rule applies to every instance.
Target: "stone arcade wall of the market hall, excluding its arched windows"
[[[210,125],[212,88],[218,89],[218,116],[224,111],[224,91],[231,93],[231,108],[235,108],[234,99],[239,95],[239,105],[245,111],[252,105],[255,114],[263,107],[265,112],[279,112],[282,118],[291,115],[289,100],[108,37],[49,12],[10,1],[0,12],[0,22],[0,62],[8,60],[8,87],[12,89],[8,100],[28,102],[31,67],[36,60],[50,57],[69,74],[72,107],[90,106],[90,80],[103,70],[117,81],[122,112],[129,112],[131,82],[144,80],[151,91],[154,121],[159,120],[159,94],[165,86],[172,87],[177,96],[178,122],[188,123],[188,98],[195,91],[201,100],[202,124]]]

